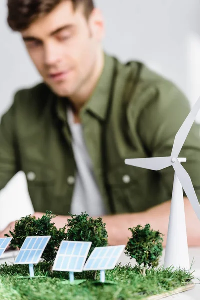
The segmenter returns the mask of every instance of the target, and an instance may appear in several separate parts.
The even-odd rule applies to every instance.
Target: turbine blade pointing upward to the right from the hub
[[[191,126],[193,125],[193,123],[195,121],[195,118],[196,118],[196,115],[198,114],[199,109],[200,109],[200,97],[194,104],[193,108],[189,112],[188,116],[184,120],[182,126],[180,127],[180,129],[178,130],[178,132],[175,136],[173,148],[172,148],[172,152],[171,152],[171,157],[178,157],[178,155],[182,149],[182,146],[185,142],[185,139],[187,138],[187,135],[191,129]]]

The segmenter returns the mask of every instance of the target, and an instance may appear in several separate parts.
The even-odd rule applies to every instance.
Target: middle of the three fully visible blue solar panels
[[[55,258],[53,271],[82,272],[91,242],[62,241]]]

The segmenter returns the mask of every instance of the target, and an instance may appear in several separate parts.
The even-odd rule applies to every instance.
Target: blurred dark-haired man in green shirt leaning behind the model
[[[110,244],[126,243],[129,227],[150,223],[165,244],[174,171],[124,159],[170,156],[187,99],[142,63],[104,53],[103,18],[92,0],[8,0],[8,24],[21,33],[43,82],[16,92],[2,117],[0,189],[23,170],[36,217],[51,210],[63,227],[68,212],[102,216]],[[199,197],[197,124],[180,157]],[[186,198],[185,210],[188,243],[200,245]]]

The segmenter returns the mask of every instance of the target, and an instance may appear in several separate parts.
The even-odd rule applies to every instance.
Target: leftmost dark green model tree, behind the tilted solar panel
[[[5,234],[5,236],[12,237],[10,245],[15,249],[20,249],[27,236],[51,235],[41,257],[50,262],[55,259],[61,241],[66,240],[66,225],[61,229],[57,229],[55,223],[51,222],[54,217],[51,211],[46,211],[46,214],[38,219],[35,216],[27,215],[15,222],[13,231],[9,231],[11,236],[8,234]]]

